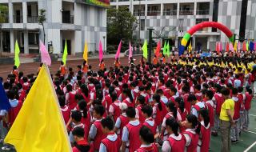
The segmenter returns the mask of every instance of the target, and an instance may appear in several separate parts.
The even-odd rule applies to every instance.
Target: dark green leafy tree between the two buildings
[[[136,18],[126,8],[107,10],[107,43],[118,45],[121,39],[129,43],[136,26]]]

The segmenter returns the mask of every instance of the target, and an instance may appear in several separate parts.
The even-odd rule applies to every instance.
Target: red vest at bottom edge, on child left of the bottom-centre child
[[[118,152],[121,146],[121,140],[117,138],[115,141],[110,141],[110,139],[104,138],[102,144],[106,146],[106,151]]]

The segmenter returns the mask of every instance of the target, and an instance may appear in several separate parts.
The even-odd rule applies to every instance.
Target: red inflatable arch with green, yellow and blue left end
[[[214,27],[218,30],[222,30],[226,34],[226,36],[230,39],[230,42],[234,42],[234,34],[224,25],[222,25],[219,22],[201,22],[193,27],[190,28],[186,32],[186,34],[182,38],[181,45],[178,50],[178,55],[182,55],[184,53],[185,47],[187,45],[187,42],[189,41],[191,35],[193,35],[196,31],[205,28],[205,27]]]

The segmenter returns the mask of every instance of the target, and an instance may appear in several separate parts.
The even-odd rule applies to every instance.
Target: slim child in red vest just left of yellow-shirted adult
[[[214,102],[212,98],[214,97],[214,92],[212,90],[206,90],[206,109],[210,117],[210,129],[214,132]]]

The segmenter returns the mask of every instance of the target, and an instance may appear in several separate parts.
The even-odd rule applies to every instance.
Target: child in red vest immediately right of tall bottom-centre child
[[[153,109],[151,106],[142,106],[142,115],[146,118],[143,123],[143,126],[148,127],[151,132],[154,134],[154,136],[158,133],[158,126],[154,122],[154,119],[152,118]]]

